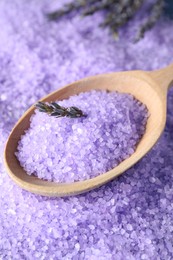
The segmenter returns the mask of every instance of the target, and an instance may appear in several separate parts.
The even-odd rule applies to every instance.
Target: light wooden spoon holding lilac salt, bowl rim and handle
[[[147,121],[146,132],[140,140],[136,151],[114,169],[85,181],[69,184],[48,182],[34,176],[29,176],[20,166],[19,161],[14,155],[21,135],[29,128],[30,117],[35,110],[35,107],[32,106],[14,126],[6,143],[4,159],[9,176],[23,189],[46,196],[80,194],[111,181],[139,161],[157,142],[164,130],[167,91],[172,82],[173,64],[164,69],[152,72],[126,71],[92,76],[74,82],[47,95],[40,101],[51,102],[62,100],[92,89],[107,89],[130,93],[145,104],[149,110],[150,117]]]

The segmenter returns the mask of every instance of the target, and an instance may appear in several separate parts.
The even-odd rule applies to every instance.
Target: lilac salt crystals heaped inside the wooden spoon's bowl
[[[128,158],[145,132],[147,109],[132,95],[92,90],[58,102],[87,117],[36,113],[16,156],[28,174],[74,182],[102,174]]]

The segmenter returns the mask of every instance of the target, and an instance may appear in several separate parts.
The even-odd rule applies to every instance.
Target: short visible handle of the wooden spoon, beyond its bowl
[[[163,69],[151,71],[149,74],[165,91],[173,84],[173,64]]]

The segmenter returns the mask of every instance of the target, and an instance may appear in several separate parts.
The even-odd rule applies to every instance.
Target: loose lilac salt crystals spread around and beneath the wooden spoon
[[[65,1],[57,2],[0,1],[0,259],[172,259],[173,90],[161,139],[111,183],[80,196],[46,198],[7,176],[5,140],[40,97],[85,76],[173,62],[173,22],[166,17],[133,44],[145,7],[115,41],[98,27],[101,14],[48,22],[44,13]]]

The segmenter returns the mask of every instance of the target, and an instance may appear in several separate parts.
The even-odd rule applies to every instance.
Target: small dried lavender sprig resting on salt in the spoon
[[[50,116],[54,117],[86,117],[86,115],[77,107],[62,107],[55,102],[51,102],[50,104],[46,104],[44,102],[38,102],[35,104],[35,107],[43,113],[46,113]]]

